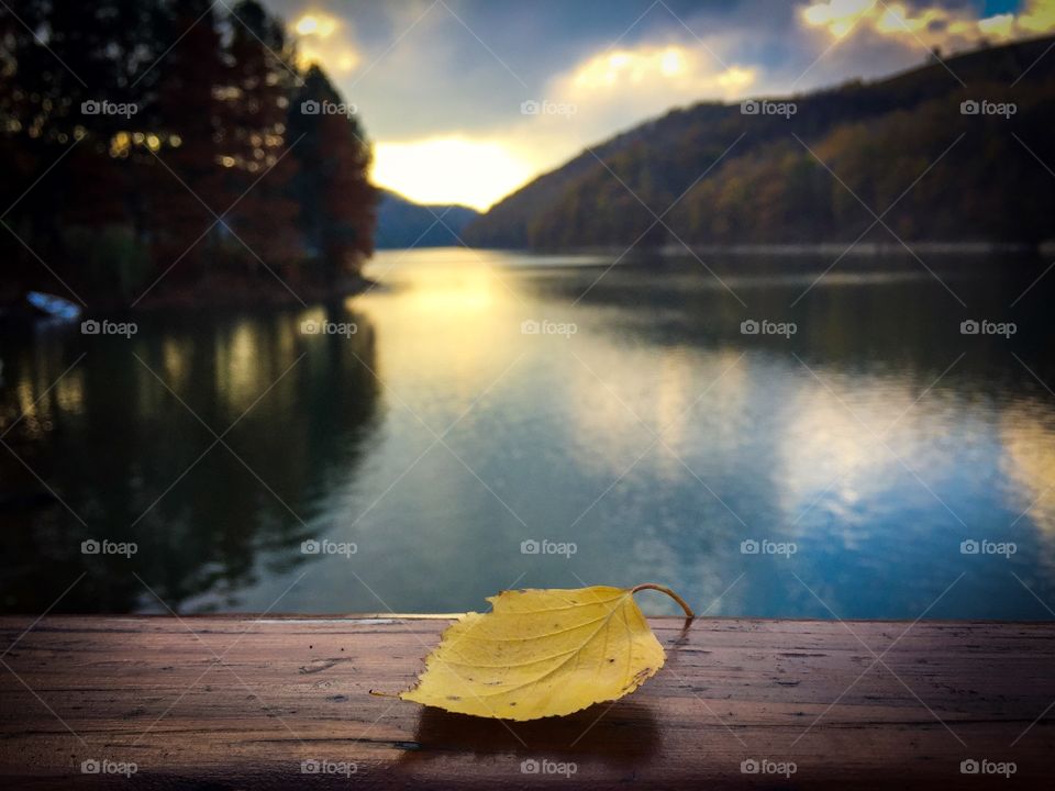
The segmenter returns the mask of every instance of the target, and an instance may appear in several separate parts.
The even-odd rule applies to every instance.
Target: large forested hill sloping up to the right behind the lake
[[[740,103],[674,110],[535,179],[465,238],[481,247],[662,245],[671,232],[690,244],[853,241],[875,221],[869,209],[882,215],[891,204],[882,222],[906,239],[1055,238],[1053,42],[774,99],[756,114]],[[652,212],[682,193],[656,223]],[[877,224],[865,238],[891,237]]]

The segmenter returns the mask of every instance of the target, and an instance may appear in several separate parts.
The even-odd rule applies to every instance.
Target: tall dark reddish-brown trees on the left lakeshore
[[[351,287],[373,252],[370,148],[281,20],[256,0],[16,8],[0,9],[0,297]]]

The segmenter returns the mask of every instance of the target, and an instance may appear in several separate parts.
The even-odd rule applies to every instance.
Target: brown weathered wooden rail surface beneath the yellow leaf
[[[54,616],[20,638],[33,620],[2,617],[0,782],[1055,788],[1055,624],[653,619],[659,675],[569,717],[477,720],[370,694],[410,684],[446,623]],[[92,759],[137,771],[82,773]],[[742,773],[751,759],[796,772]],[[962,775],[968,759],[1015,773]],[[346,773],[306,776],[309,760]],[[575,775],[522,771],[532,760]]]

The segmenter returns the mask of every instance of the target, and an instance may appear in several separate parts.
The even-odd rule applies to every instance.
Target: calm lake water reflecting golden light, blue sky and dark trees
[[[1045,261],[949,260],[954,297],[913,259],[844,259],[799,299],[830,258],[589,288],[611,260],[395,252],[340,309],[0,334],[0,606],[75,580],[56,612],[656,581],[710,614],[1052,617],[1055,272],[1021,297]]]

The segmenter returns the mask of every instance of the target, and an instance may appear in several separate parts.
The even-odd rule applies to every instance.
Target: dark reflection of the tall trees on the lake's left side
[[[4,348],[4,426],[24,417],[4,441],[25,464],[7,450],[0,461],[3,608],[47,608],[62,588],[42,571],[66,584],[87,575],[64,610],[164,609],[134,575],[175,609],[232,608],[307,562],[326,472],[355,475],[378,385],[365,316],[342,315],[357,324],[349,338],[306,337],[306,317],[318,319],[148,316],[131,341],[5,338],[19,346]],[[88,538],[138,552],[86,556]]]

